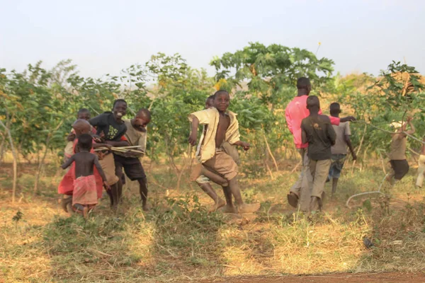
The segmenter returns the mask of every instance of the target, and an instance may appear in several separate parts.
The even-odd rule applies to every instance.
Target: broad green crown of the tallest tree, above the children
[[[301,76],[310,78],[317,86],[325,83],[334,70],[333,64],[331,59],[317,59],[307,50],[276,44],[265,46],[259,42],[234,53],[227,52],[210,62],[217,71],[217,81],[226,79],[227,86],[241,86],[246,81],[249,93],[271,97],[268,100],[279,96],[288,85],[294,86]]]

